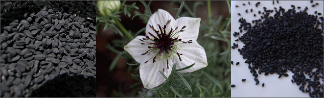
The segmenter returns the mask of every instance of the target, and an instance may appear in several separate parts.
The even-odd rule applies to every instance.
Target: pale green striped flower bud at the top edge
[[[112,13],[115,13],[120,8],[119,0],[98,0],[97,1],[98,11],[101,16],[107,17]]]

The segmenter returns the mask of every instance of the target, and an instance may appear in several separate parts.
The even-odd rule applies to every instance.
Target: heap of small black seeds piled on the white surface
[[[294,5],[291,7],[288,10],[281,6],[278,10],[275,8],[274,16],[269,16],[273,10],[264,7],[261,19],[252,23],[240,18],[239,29],[246,33],[238,37],[245,44],[238,51],[249,64],[256,84],[258,74],[277,73],[280,78],[291,71],[294,73],[291,81],[300,86],[301,92],[323,98],[323,82],[320,82],[324,77],[323,16],[316,12],[308,14],[307,7],[301,11],[296,11]]]

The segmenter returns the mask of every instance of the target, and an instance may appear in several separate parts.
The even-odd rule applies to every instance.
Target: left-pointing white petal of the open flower
[[[124,49],[132,55],[132,57],[139,63],[144,63],[147,60],[152,60],[157,53],[158,50],[149,52],[148,54],[141,55],[142,53],[145,53],[148,49],[148,46],[152,45],[141,45],[140,43],[145,43],[140,41],[139,39],[145,38],[145,36],[137,36],[134,38],[131,42],[129,42]],[[149,40],[146,40],[147,42],[150,42]],[[152,58],[152,59],[151,59]],[[153,60],[152,60],[153,62]]]

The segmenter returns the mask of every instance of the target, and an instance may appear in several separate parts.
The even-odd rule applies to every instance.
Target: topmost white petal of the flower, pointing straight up
[[[151,29],[150,25],[153,25],[154,29],[160,30],[159,26],[161,28],[167,23],[168,20],[171,20],[170,24],[166,27],[165,31],[168,32],[171,27],[175,29],[177,27],[177,22],[174,20],[174,18],[171,16],[171,14],[163,9],[158,9],[157,12],[152,14],[150,19],[148,20],[145,28],[145,34],[150,36],[147,32],[152,33],[154,36],[157,34]],[[160,32],[161,33],[161,32]],[[157,36],[156,36],[157,37]],[[153,38],[153,37],[152,37]]]

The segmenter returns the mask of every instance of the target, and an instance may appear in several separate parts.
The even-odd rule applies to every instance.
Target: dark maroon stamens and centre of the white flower
[[[161,25],[158,24],[160,30],[156,30],[154,29],[153,25],[150,25],[151,29],[154,31],[154,33],[156,33],[156,35],[153,35],[152,33],[148,32],[148,34],[151,35],[151,37],[146,35],[145,36],[146,38],[139,39],[140,41],[145,42],[145,43],[141,43],[142,45],[152,45],[152,46],[148,46],[149,50],[147,50],[145,53],[142,53],[142,55],[148,54],[151,51],[158,50],[159,52],[153,57],[153,63],[156,62],[157,56],[165,57],[167,69],[169,69],[168,57],[171,57],[172,54],[176,54],[179,57],[179,60],[182,61],[180,55],[183,54],[177,51],[177,49],[179,49],[179,46],[175,45],[175,43],[177,42],[182,42],[184,44],[192,43],[192,40],[185,42],[182,41],[182,39],[179,39],[179,36],[175,36],[179,32],[185,31],[184,30],[186,27],[185,25],[177,32],[175,31],[178,29],[178,26],[174,30],[171,27],[171,30],[166,31],[166,27],[170,24],[170,22],[171,20],[168,20],[163,27],[161,27]],[[147,60],[145,63],[147,63],[149,60]],[[164,72],[164,68],[163,68],[163,72]]]

